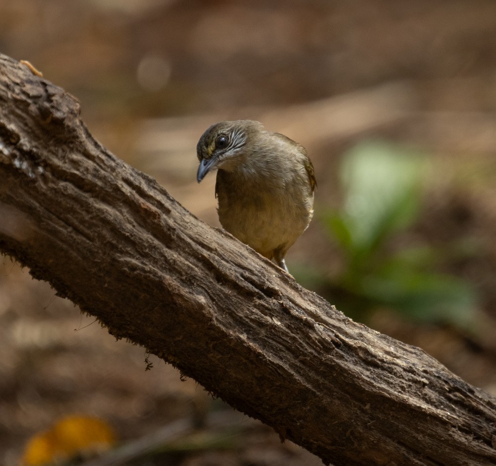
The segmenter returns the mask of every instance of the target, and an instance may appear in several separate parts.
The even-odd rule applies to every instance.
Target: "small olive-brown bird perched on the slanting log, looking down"
[[[317,186],[305,148],[257,121],[222,121],[196,146],[196,179],[217,169],[222,227],[289,273],[285,256],[310,224]]]

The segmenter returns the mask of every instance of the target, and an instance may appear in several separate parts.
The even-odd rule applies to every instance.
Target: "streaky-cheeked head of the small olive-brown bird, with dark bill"
[[[200,161],[196,179],[198,183],[213,169],[232,170],[243,162],[248,153],[247,143],[250,136],[263,131],[259,122],[238,120],[219,122],[202,134],[196,146],[196,155]]]

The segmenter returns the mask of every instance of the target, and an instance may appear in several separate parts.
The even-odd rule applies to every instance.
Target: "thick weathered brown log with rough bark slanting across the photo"
[[[495,398],[199,221],[5,56],[0,180],[3,253],[324,463],[496,464]]]

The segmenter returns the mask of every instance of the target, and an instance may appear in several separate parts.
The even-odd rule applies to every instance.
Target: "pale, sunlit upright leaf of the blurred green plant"
[[[342,221],[355,248],[372,253],[392,232],[415,220],[426,163],[423,156],[383,142],[364,142],[342,163]]]

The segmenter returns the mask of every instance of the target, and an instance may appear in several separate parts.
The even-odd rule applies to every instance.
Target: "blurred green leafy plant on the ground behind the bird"
[[[421,154],[384,142],[360,143],[343,158],[343,207],[322,221],[345,259],[331,287],[355,318],[376,307],[458,326],[474,316],[470,284],[435,270],[440,251],[419,240],[393,247],[421,214],[427,169]]]

